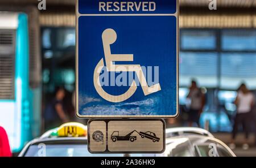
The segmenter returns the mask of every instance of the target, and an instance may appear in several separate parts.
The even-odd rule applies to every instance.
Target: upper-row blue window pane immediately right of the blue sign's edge
[[[196,50],[216,49],[216,36],[213,31],[182,31],[181,49]]]

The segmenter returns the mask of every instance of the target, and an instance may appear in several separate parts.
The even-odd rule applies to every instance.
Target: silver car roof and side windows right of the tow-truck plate
[[[166,150],[152,156],[169,157],[235,157],[234,152],[212,133],[202,128],[166,129]]]

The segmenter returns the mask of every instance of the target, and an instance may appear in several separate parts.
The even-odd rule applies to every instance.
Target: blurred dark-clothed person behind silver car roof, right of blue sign
[[[205,97],[201,89],[197,87],[195,80],[191,81],[187,98],[191,101],[188,111],[188,126],[192,127],[193,123],[199,126],[199,118],[205,105]]]

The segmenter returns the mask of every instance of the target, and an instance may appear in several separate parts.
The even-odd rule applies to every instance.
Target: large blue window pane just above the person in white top
[[[245,82],[256,88],[256,54],[221,54],[221,88],[236,90]]]

